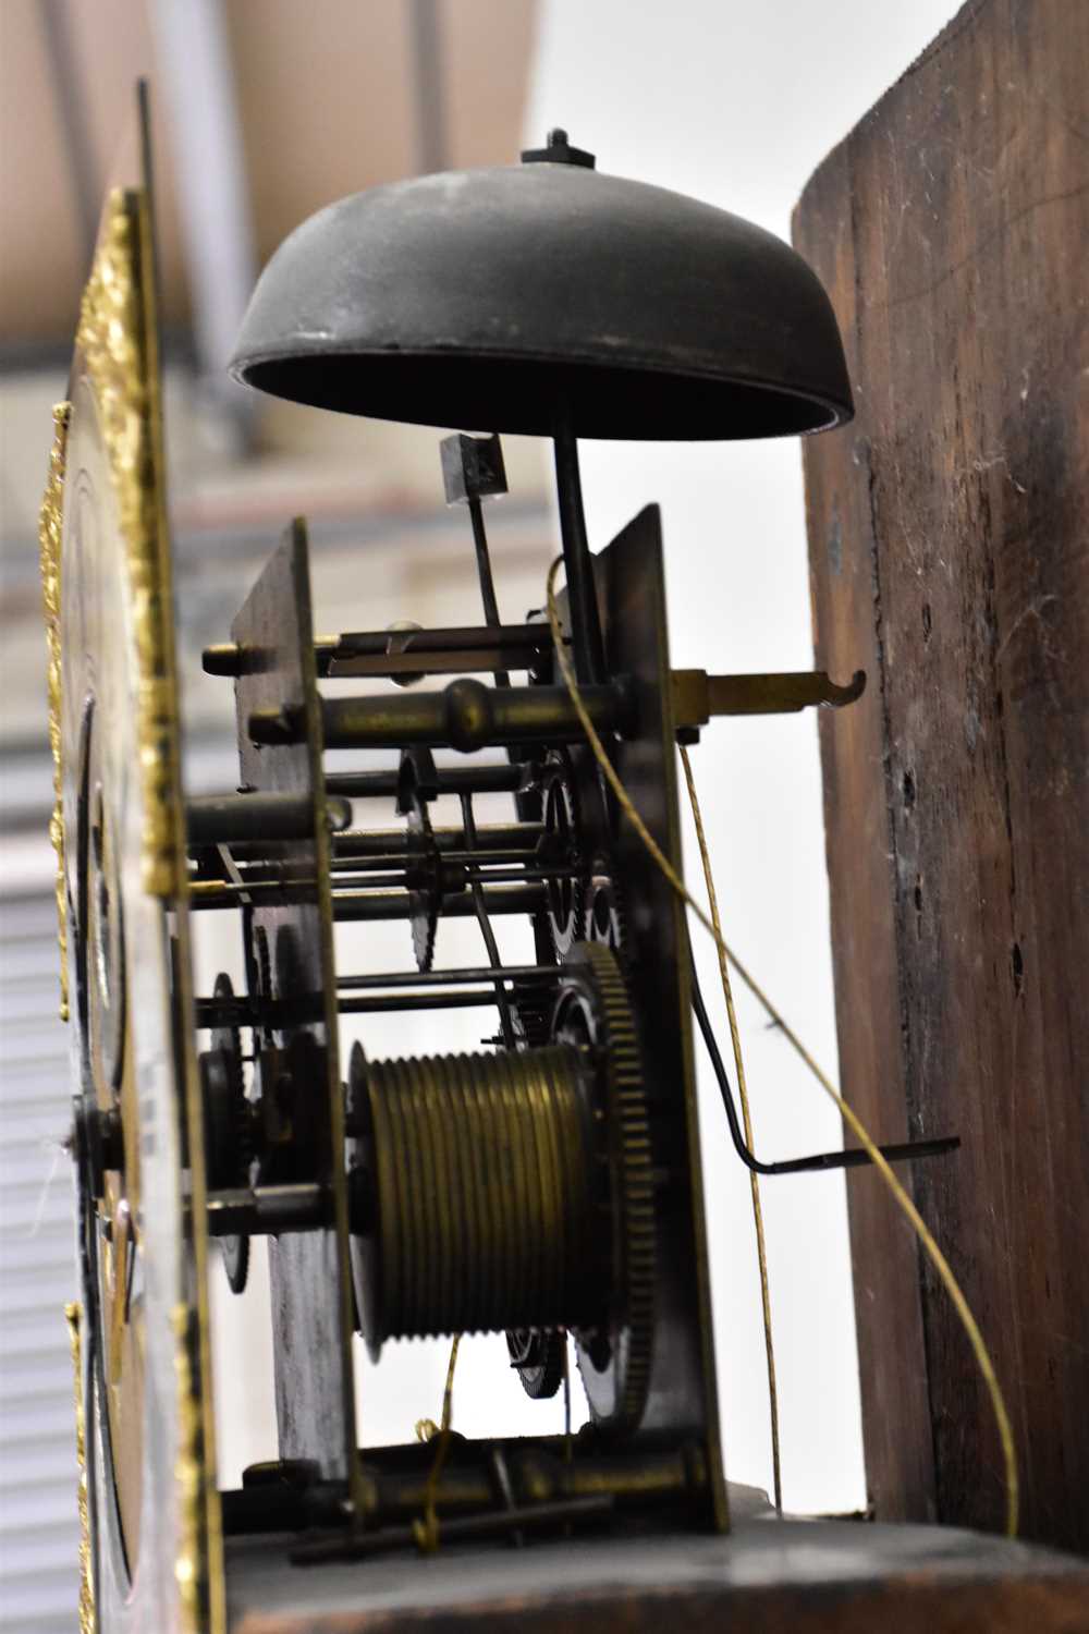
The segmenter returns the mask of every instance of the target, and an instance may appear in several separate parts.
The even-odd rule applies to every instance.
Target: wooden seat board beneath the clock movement
[[[230,1539],[230,1634],[1086,1634],[1089,1564],[937,1526],[749,1518],[728,1538],[606,1538],[292,1567]]]

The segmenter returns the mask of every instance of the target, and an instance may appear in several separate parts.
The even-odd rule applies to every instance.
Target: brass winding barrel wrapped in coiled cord
[[[571,1044],[369,1062],[356,1046],[349,1163],[361,1325],[385,1338],[593,1325],[607,1315],[607,1163],[594,1069]]]

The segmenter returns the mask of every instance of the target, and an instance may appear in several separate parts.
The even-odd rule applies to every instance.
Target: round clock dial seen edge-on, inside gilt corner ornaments
[[[77,379],[60,547],[62,799],[82,1093],[114,1114],[95,1199],[98,1389],[124,1557],[136,1570],[144,1471],[144,1265],[139,1092],[131,1036],[126,881],[134,863],[139,672],[121,521],[90,382]],[[136,835],[139,842],[139,830]]]

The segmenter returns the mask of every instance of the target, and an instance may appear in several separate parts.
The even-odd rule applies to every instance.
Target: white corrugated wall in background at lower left
[[[0,1627],[77,1627],[69,1031],[47,889],[0,895]]]

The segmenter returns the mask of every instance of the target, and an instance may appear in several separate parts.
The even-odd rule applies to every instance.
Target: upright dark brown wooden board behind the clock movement
[[[816,663],[870,678],[821,722],[844,1092],[960,1134],[914,1196],[1024,1534],[1089,1549],[1089,5],[965,5],[793,235],[857,400],[805,449]],[[985,1387],[873,1175],[851,1229],[878,1515],[998,1526]]]

